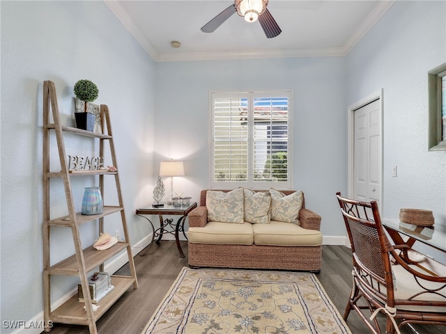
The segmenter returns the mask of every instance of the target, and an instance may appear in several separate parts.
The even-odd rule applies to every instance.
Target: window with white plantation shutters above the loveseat
[[[291,92],[211,93],[211,188],[291,188]]]

